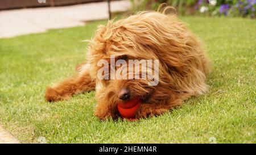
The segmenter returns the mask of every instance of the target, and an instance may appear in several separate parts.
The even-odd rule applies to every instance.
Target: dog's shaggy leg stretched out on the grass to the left
[[[48,87],[46,90],[46,100],[48,102],[56,102],[59,100],[67,100],[73,94],[91,91],[95,89],[95,81],[90,77],[88,71],[76,74],[71,78],[57,83],[56,86]]]

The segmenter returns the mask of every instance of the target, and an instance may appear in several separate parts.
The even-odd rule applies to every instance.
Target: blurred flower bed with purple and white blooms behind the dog
[[[156,9],[160,3],[174,6],[182,15],[242,16],[255,18],[256,0],[131,0],[134,10]]]

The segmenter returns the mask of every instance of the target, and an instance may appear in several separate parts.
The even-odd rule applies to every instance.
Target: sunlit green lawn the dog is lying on
[[[212,61],[207,95],[140,122],[101,122],[94,92],[44,101],[48,85],[72,76],[100,23],[0,39],[0,122],[22,143],[256,143],[256,22],[184,17]]]

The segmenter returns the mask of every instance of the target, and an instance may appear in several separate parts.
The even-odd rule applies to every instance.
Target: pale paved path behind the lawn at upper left
[[[111,2],[112,12],[126,11],[130,7],[129,0]],[[86,21],[107,18],[107,2],[0,11],[0,38],[82,26]]]

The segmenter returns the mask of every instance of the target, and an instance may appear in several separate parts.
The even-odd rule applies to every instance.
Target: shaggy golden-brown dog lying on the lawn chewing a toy
[[[90,40],[86,63],[77,66],[75,76],[48,87],[46,100],[67,100],[74,94],[96,90],[94,114],[104,120],[118,118],[117,103],[130,99],[142,100],[136,118],[147,118],[206,93],[207,57],[196,37],[175,14],[167,14],[168,9],[139,12],[98,27]],[[125,61],[159,60],[158,85],[148,85],[149,78],[99,79],[98,61],[109,62],[111,56]]]

